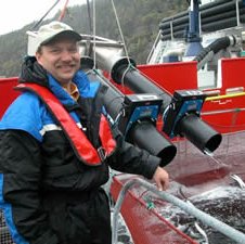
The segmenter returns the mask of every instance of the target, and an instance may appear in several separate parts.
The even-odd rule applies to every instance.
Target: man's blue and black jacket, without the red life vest
[[[20,82],[36,82],[50,89],[93,146],[99,147],[105,89],[100,82],[90,82],[81,70],[73,81],[80,93],[78,101],[74,101],[34,57],[25,61],[20,77]],[[149,179],[153,177],[160,163],[158,157],[126,143],[120,136],[116,141],[114,154],[101,165],[81,164],[59,121],[40,98],[26,91],[10,105],[0,121],[0,206],[16,244],[62,243],[62,230],[51,223],[53,209],[48,206],[49,200],[52,198],[52,206],[57,206],[63,201],[73,201],[76,195],[74,202],[77,203],[77,195],[100,189],[108,180],[108,166]],[[65,196],[56,197],[57,192]],[[74,221],[79,220],[76,209],[74,207],[73,213],[78,217]],[[80,232],[75,230],[74,221],[66,226],[66,231],[74,233],[76,240]]]

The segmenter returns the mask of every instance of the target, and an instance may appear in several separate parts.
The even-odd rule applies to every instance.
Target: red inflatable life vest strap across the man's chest
[[[21,91],[25,91],[25,90],[31,91],[41,99],[41,101],[47,105],[49,112],[60,123],[60,126],[62,127],[77,157],[86,165],[89,165],[89,166],[101,165],[102,162],[105,159],[105,155],[107,155],[107,153],[112,153],[112,151],[115,149],[116,143],[113,138],[109,138],[109,139],[107,138],[108,142],[107,143],[104,142],[104,145],[106,146],[106,151],[108,150],[108,152],[105,152],[104,154],[102,154],[101,149],[99,151],[94,149],[91,142],[86,137],[86,134],[83,133],[83,131],[81,131],[78,128],[75,120],[67,113],[67,111],[65,111],[63,104],[48,88],[39,86],[37,84],[28,82],[28,84],[20,84],[16,87],[16,89]],[[109,126],[104,125],[102,127],[104,130]],[[102,146],[104,147],[104,145],[102,140]]]

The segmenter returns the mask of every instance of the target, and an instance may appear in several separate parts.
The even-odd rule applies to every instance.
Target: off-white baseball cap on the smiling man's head
[[[76,33],[70,26],[62,22],[51,22],[48,25],[43,25],[38,31],[27,31],[28,47],[27,54],[34,56],[40,46],[44,46],[54,41],[60,37],[69,37],[76,41],[81,40],[81,36]]]

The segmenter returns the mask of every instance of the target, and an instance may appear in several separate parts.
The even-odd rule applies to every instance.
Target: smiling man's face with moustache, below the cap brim
[[[70,39],[60,39],[41,47],[36,59],[48,73],[62,86],[72,81],[80,67],[80,54],[77,42]]]

